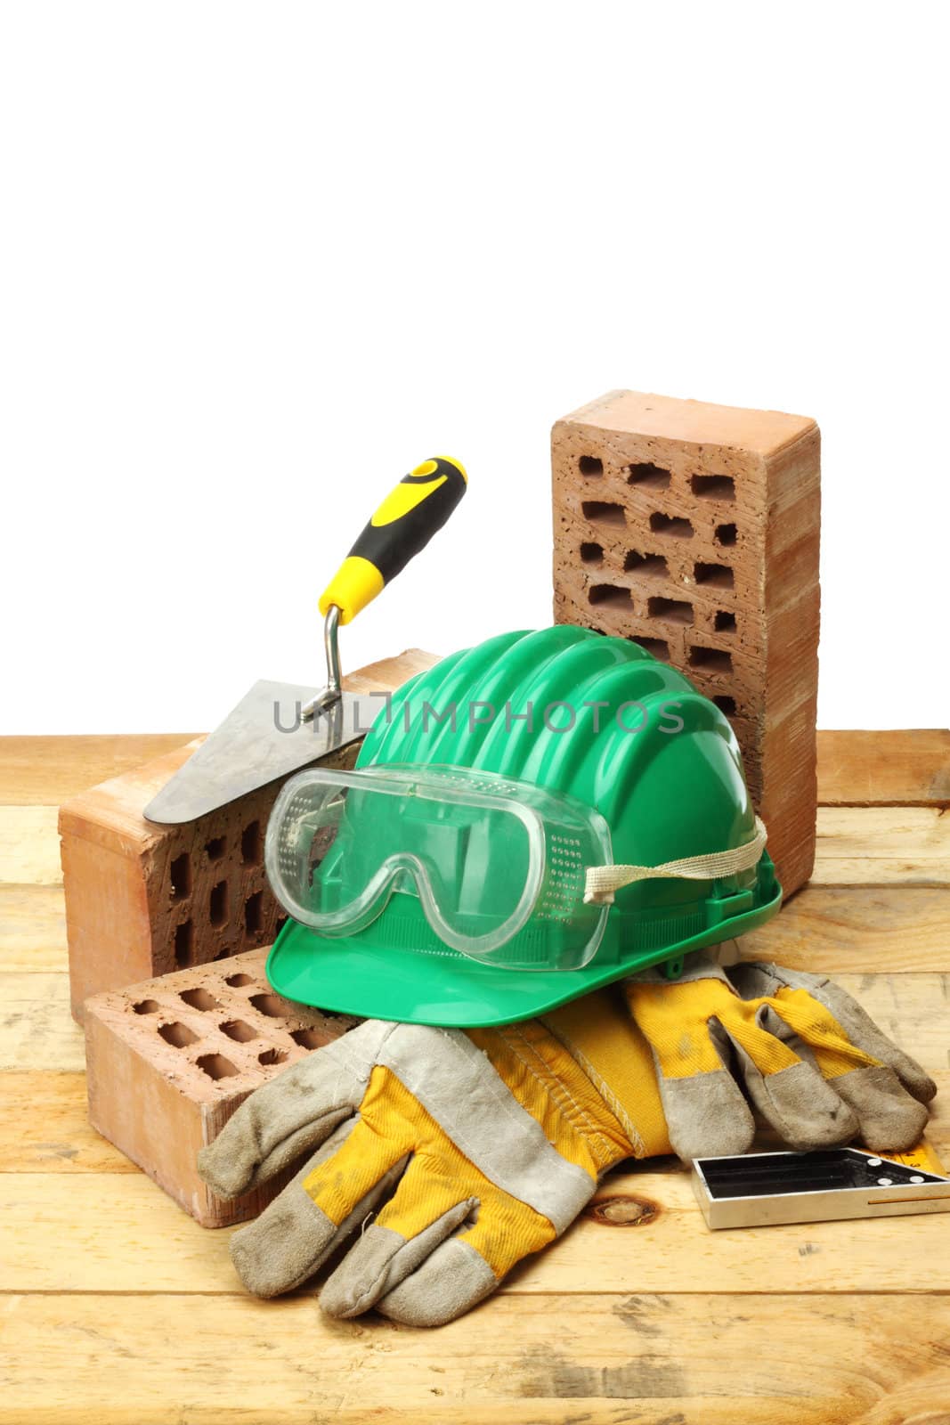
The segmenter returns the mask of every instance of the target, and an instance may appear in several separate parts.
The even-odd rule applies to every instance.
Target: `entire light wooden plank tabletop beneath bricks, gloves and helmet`
[[[873,737],[876,752],[849,752],[825,735],[818,882],[742,953],[835,973],[936,1073],[929,1139],[946,1161],[946,734]],[[708,1233],[672,1160],[601,1187],[655,1217],[584,1217],[439,1331],[328,1321],[309,1288],[248,1298],[229,1234],[199,1228],[85,1121],[44,798],[124,754],[97,764],[78,741],[47,747],[60,782],[40,770],[36,797],[23,747],[0,771],[0,1425],[950,1422],[950,1214]]]

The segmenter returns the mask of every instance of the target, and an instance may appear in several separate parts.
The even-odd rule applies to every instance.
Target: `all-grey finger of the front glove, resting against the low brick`
[[[256,1089],[198,1153],[198,1171],[212,1193],[238,1197],[266,1183],[350,1117],[392,1029],[366,1020]]]

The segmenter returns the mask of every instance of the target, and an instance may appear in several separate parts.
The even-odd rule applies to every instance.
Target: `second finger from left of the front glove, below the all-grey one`
[[[261,1216],[231,1238],[231,1258],[255,1297],[278,1297],[308,1281],[399,1181],[409,1154],[369,1174],[369,1186],[340,1217],[330,1217],[313,1200],[305,1183],[312,1187],[313,1176],[326,1171],[335,1176],[340,1153],[355,1140],[359,1150],[360,1127],[356,1119],[340,1124]]]

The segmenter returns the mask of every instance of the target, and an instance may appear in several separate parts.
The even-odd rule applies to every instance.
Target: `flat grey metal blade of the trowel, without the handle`
[[[148,821],[179,825],[226,807],[365,737],[387,707],[385,693],[343,693],[329,711],[305,722],[301,708],[316,693],[292,683],[255,683],[150,801]]]

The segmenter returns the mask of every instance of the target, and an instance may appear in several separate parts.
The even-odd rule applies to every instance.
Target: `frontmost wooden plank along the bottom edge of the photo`
[[[309,1297],[24,1295],[3,1425],[946,1425],[950,1300],[510,1295],[439,1331]],[[896,1341],[899,1338],[899,1344]]]

